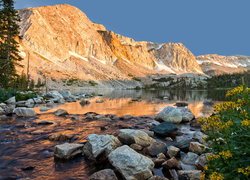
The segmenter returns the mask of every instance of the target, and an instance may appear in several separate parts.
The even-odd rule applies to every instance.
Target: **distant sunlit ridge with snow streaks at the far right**
[[[220,56],[208,54],[198,56],[197,62],[208,75],[244,72],[250,69],[250,56]]]

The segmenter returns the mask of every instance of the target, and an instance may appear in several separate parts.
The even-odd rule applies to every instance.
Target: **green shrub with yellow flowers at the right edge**
[[[212,153],[206,175],[211,180],[249,179],[250,89],[239,86],[226,96],[228,101],[216,105],[214,115],[199,119]]]

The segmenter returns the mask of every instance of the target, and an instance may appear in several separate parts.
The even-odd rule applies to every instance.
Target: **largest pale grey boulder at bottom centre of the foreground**
[[[127,145],[118,147],[112,151],[108,159],[127,180],[149,179],[153,176],[153,161],[137,153]]]

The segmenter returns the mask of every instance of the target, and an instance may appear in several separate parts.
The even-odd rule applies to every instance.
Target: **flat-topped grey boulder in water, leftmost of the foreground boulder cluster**
[[[71,159],[82,153],[82,144],[64,143],[55,147],[54,156],[59,159]]]

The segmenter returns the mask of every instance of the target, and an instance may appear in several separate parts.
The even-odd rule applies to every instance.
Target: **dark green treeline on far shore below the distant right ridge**
[[[213,76],[207,80],[208,89],[232,88],[242,84],[245,84],[248,87],[250,86],[250,70],[242,73]]]

